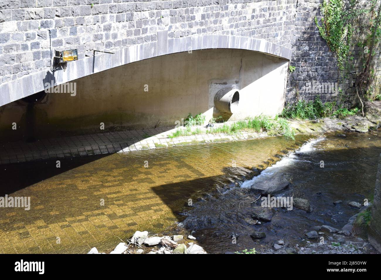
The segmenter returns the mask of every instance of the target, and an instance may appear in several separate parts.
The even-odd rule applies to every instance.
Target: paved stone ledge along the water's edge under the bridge
[[[230,122],[227,122],[230,123]],[[226,124],[226,123],[225,123]],[[215,126],[222,124],[215,124]],[[194,127],[202,131],[202,126]],[[97,133],[81,136],[42,139],[36,142],[0,143],[0,164],[33,162],[47,159],[83,157],[88,155],[113,154],[136,150],[155,149],[168,146],[183,146],[208,142],[226,142],[258,138],[258,133],[240,133],[234,136],[220,134],[196,134],[168,138],[178,130],[173,126],[144,130],[127,130],[112,133]]]

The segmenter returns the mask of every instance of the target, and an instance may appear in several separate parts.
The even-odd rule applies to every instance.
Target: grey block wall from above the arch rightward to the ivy
[[[320,2],[0,0],[0,83],[48,71],[54,50],[76,48],[81,60],[93,56],[93,50],[157,42],[158,32],[165,31],[168,38],[235,35],[292,48],[296,69],[288,77],[286,102],[312,100],[316,94],[306,91],[306,83],[337,82],[335,58],[314,22]],[[380,74],[381,69],[376,81]],[[349,78],[347,84],[352,82]],[[337,98],[320,95],[323,101]]]

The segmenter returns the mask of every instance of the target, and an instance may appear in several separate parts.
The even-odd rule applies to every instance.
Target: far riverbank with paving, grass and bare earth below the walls
[[[348,115],[342,119],[327,117],[319,120],[285,120],[263,116],[256,119],[258,123],[251,119],[251,123],[250,120],[243,120],[207,126],[171,126],[42,139],[35,142],[7,142],[0,144],[0,165],[127,153],[164,147],[245,141],[282,134],[293,138],[297,134],[313,136],[333,131],[366,133],[369,130],[376,130],[379,126],[381,101],[368,102],[366,108],[365,117]],[[247,125],[248,122],[250,125]],[[266,126],[268,126],[267,129]]]

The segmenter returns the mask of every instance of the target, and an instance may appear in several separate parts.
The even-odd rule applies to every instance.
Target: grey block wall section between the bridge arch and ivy
[[[302,0],[297,2],[295,14],[295,42],[293,43],[291,66],[293,73],[288,75],[286,103],[298,99],[314,100],[320,95],[323,102],[336,100],[336,93],[319,93],[319,88],[308,86],[338,81],[337,61],[327,43],[319,34],[315,16],[319,14],[320,0]]]

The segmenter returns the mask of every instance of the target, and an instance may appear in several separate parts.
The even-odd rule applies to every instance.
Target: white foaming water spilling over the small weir
[[[248,180],[248,181],[245,181],[241,184],[241,187],[242,188],[250,188],[251,185],[256,181],[258,180],[259,178],[263,178],[264,176],[269,176],[269,175],[272,175],[274,174],[276,171],[278,171],[280,168],[284,167],[284,166],[288,166],[290,164],[292,164],[293,162],[295,161],[302,161],[302,160],[299,160],[298,157],[297,157],[297,154],[298,153],[309,153],[309,152],[312,152],[314,150],[316,150],[316,148],[314,147],[314,145],[322,140],[324,140],[325,138],[322,137],[322,138],[318,138],[318,139],[314,139],[314,140],[311,140],[311,141],[308,141],[306,144],[304,144],[303,146],[301,146],[298,150],[296,150],[294,153],[290,154],[290,155],[287,155],[286,157],[282,158],[282,160],[280,160],[279,162],[275,163],[274,165],[266,168],[265,170],[263,170],[261,172],[261,174],[259,174],[258,176],[255,176],[253,179],[251,180]],[[305,160],[303,160],[305,161]]]

